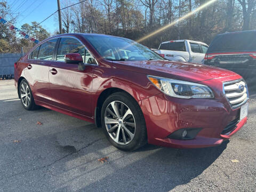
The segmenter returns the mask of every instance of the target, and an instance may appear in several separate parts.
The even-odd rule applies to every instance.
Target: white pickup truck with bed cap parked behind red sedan
[[[167,41],[160,44],[158,50],[152,49],[162,57],[172,61],[204,63],[208,45],[190,40]]]

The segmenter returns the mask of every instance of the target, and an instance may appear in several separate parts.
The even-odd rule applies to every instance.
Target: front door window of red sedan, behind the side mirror
[[[57,61],[64,61],[64,55],[67,53],[80,53],[85,62],[85,47],[75,38],[64,37],[60,39],[60,44],[57,52]],[[86,59],[90,53],[86,53]]]

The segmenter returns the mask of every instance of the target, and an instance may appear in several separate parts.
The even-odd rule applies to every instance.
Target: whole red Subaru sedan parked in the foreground
[[[240,75],[169,61],[126,38],[50,37],[14,68],[25,109],[43,106],[95,123],[122,150],[147,142],[216,146],[247,121],[249,94]]]

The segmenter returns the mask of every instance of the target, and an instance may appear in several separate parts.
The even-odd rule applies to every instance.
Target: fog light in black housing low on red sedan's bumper
[[[179,140],[189,140],[189,139],[194,139],[201,131],[202,128],[183,128],[179,129],[177,131],[174,131],[170,135],[167,136],[167,138],[170,139],[179,139]]]

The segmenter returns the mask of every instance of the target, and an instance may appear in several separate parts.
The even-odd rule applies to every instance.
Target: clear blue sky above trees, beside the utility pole
[[[39,23],[58,10],[57,0],[7,0],[6,2],[11,6],[14,14],[19,14],[14,25],[17,28],[25,23],[31,25],[32,21]],[[58,12],[41,24],[51,34],[59,29],[56,16]]]

